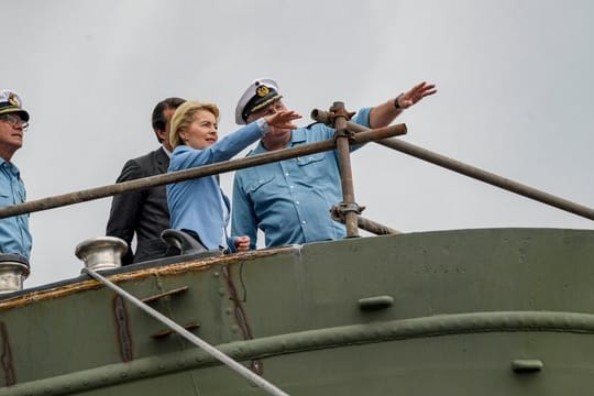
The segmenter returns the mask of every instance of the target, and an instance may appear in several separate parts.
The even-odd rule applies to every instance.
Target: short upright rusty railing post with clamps
[[[342,185],[342,202],[339,205],[339,212],[344,218],[346,227],[346,238],[359,237],[356,216],[361,213],[361,208],[355,202],[353,188],[353,173],[351,170],[351,145],[349,144],[350,132],[346,122],[350,116],[344,109],[344,103],[337,101],[330,109],[334,113],[334,138],[337,140],[337,152],[340,168],[340,182]]]

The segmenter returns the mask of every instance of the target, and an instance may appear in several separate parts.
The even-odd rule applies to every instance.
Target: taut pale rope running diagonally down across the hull
[[[267,382],[266,380],[264,380],[260,375],[251,372],[250,370],[248,370],[246,367],[244,367],[240,363],[235,362],[233,359],[229,358],[228,355],[226,355],[224,353],[222,353],[221,351],[219,351],[218,349],[216,349],[215,346],[212,346],[208,342],[201,340],[199,337],[193,334],[188,330],[184,329],[182,326],[177,324],[175,321],[170,320],[166,316],[164,316],[161,312],[158,312],[158,311],[154,310],[153,308],[148,307],[146,304],[142,302],[136,297],[132,296],[131,294],[129,294],[128,292],[122,289],[121,287],[114,285],[113,283],[108,280],[103,276],[99,275],[94,270],[86,267],[82,271],[86,272],[87,274],[89,274],[91,277],[94,277],[97,280],[105,284],[107,287],[109,287],[110,289],[112,289],[113,292],[116,292],[117,294],[122,296],[123,298],[125,298],[128,301],[132,302],[133,305],[135,305],[140,309],[144,310],[146,314],[148,314],[153,318],[157,319],[162,323],[169,327],[173,331],[177,332],[179,336],[184,337],[189,342],[191,342],[195,345],[201,348],[202,350],[205,350],[206,352],[211,354],[213,358],[221,361],[223,364],[227,364],[229,366],[229,369],[233,370],[238,374],[243,375],[245,378],[253,382],[254,384],[256,384],[257,386],[260,386],[261,388],[266,391],[268,394],[275,395],[275,396],[289,396],[288,394],[280,391],[279,388],[277,388],[276,386],[274,386],[273,384],[271,384],[270,382]]]

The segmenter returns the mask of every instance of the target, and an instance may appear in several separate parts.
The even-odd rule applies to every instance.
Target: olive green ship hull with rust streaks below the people
[[[594,387],[594,231],[488,229],[105,273],[290,395]],[[0,299],[0,395],[261,395],[88,277]]]

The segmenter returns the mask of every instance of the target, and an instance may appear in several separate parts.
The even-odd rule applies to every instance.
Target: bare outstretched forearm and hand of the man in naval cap
[[[403,112],[422,98],[437,92],[435,84],[422,81],[394,99],[374,107],[370,113],[371,128],[387,127]]]

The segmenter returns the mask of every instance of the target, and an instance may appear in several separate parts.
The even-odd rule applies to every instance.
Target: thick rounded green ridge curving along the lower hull
[[[238,361],[249,361],[328,348],[484,332],[594,334],[594,315],[553,311],[440,315],[308,330],[249,341],[235,341],[220,344],[217,348]],[[194,349],[16,384],[0,388],[0,396],[68,395],[219,364],[219,361],[206,352]]]

